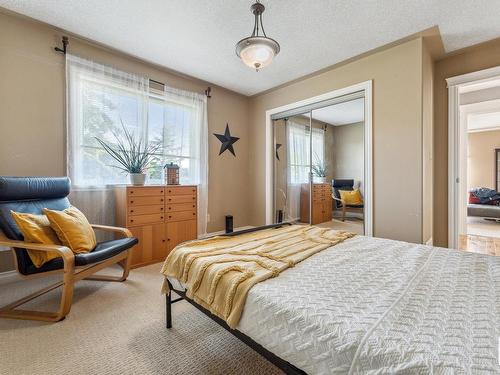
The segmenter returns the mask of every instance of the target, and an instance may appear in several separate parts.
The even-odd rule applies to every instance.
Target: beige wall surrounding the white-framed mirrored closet
[[[265,111],[367,80],[373,80],[374,234],[421,242],[421,38],[251,99],[253,224],[265,222]]]

